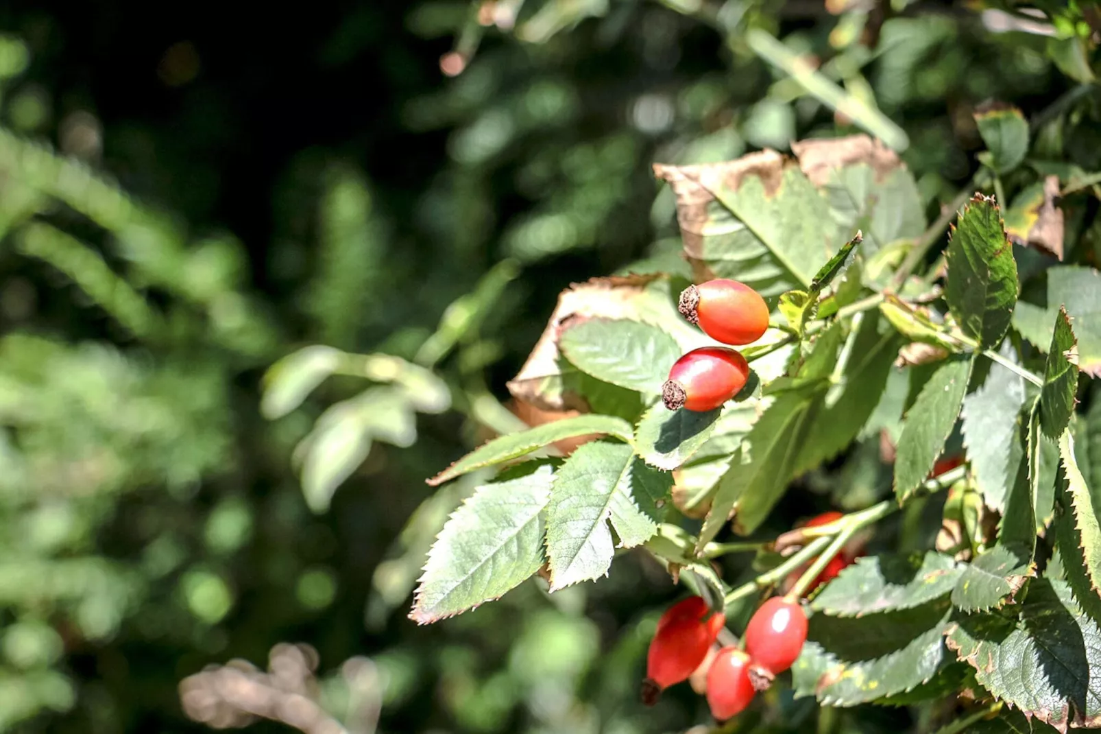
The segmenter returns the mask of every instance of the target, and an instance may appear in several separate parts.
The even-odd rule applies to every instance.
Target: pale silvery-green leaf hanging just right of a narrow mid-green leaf
[[[1003,356],[1012,347],[1003,349]],[[990,366],[982,387],[963,400],[967,457],[983,500],[999,511],[1005,506],[1005,493],[1024,456],[1018,440],[1024,402],[1025,381],[998,363]]]

